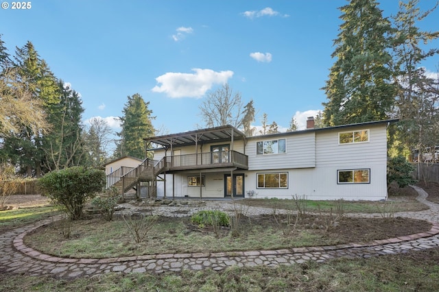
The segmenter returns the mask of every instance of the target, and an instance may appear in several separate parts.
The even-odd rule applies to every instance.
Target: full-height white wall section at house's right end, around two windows
[[[385,124],[349,127],[369,130],[369,141],[339,145],[338,132],[329,130],[316,139],[316,179],[313,193],[317,197],[338,196],[344,199],[379,200],[387,198],[387,131]],[[337,170],[370,169],[370,184],[337,184]]]

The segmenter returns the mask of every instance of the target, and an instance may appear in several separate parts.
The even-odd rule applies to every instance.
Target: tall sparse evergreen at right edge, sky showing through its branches
[[[436,4],[427,12],[420,12],[418,3],[418,0],[401,2],[394,16],[394,79],[399,85],[394,112],[401,122],[392,127],[394,135],[390,141],[396,154],[403,151],[407,155],[418,149],[422,156],[426,148],[434,149],[439,140],[438,78],[427,77],[422,66],[439,49],[425,51],[422,45],[439,38],[439,31],[423,32],[417,27],[437,7]]]

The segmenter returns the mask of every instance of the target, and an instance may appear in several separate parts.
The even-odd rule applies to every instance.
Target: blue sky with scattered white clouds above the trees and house
[[[381,2],[384,16],[398,11],[398,1]],[[244,103],[254,100],[254,125],[265,112],[269,123],[286,128],[295,116],[304,127],[326,101],[320,88],[334,62],[337,8],[346,3],[38,0],[29,10],[0,10],[0,34],[11,54],[34,44],[56,77],[81,94],[84,121],[102,117],[117,130],[113,118],[139,93],[161,134],[194,130],[202,124],[198,106],[228,82]],[[435,10],[418,25],[437,30],[438,19]],[[433,73],[439,57],[423,65]]]

